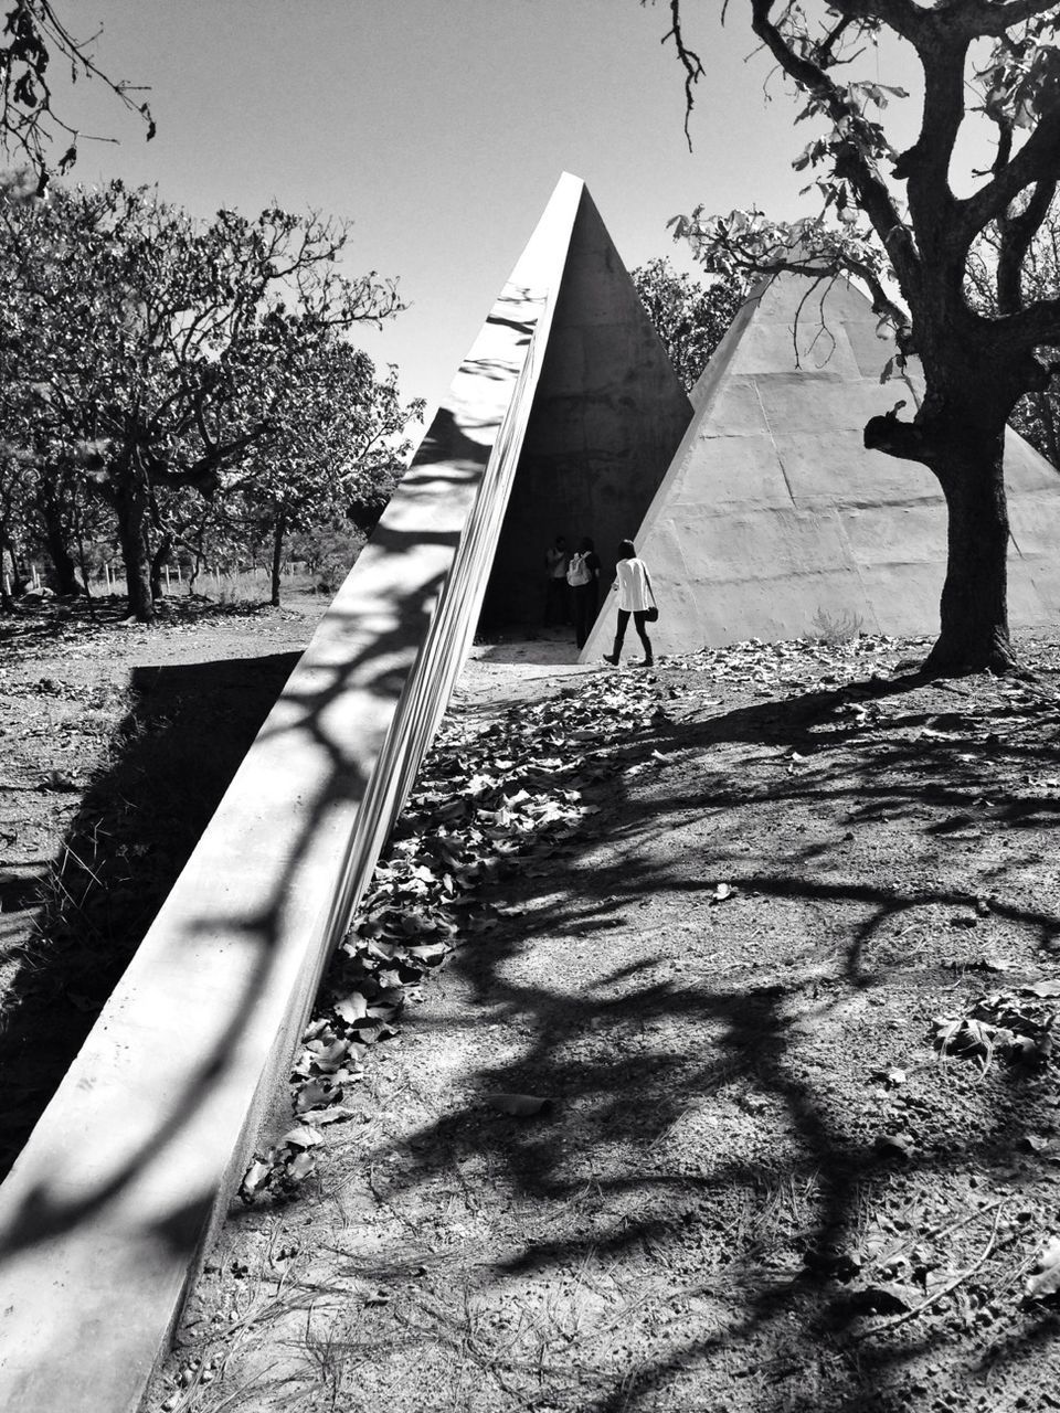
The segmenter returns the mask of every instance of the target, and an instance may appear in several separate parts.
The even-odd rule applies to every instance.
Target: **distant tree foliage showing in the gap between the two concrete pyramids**
[[[669,260],[656,259],[633,271],[633,284],[674,373],[690,393],[743,302],[745,281],[734,277],[702,285],[678,274]]]

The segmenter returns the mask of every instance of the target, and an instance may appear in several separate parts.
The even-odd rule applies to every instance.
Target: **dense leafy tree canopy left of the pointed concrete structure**
[[[199,222],[119,181],[0,192],[4,485],[21,487],[6,533],[35,509],[69,581],[55,547],[103,504],[150,622],[164,555],[223,523],[204,497],[237,482],[287,527],[334,513],[338,486],[355,500],[416,407],[343,341],[401,308],[393,281],[336,273],[345,236],[278,208]]]

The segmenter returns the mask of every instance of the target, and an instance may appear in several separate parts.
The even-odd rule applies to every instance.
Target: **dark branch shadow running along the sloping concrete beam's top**
[[[454,447],[452,437],[447,445],[449,456],[462,449],[466,452],[448,475],[447,483],[451,492],[458,492],[465,483],[473,486],[485,459],[483,448],[471,442],[466,448]],[[445,447],[427,447],[420,459],[421,480],[432,479],[434,473],[430,471],[432,455],[437,452],[441,459],[445,449]],[[418,490],[416,475],[410,473],[408,483],[413,485],[411,493],[416,495]],[[290,824],[276,821],[276,831],[283,839],[280,862],[263,876],[260,887],[257,883],[252,885],[257,899],[253,907],[233,904],[229,890],[220,889],[215,904],[204,904],[198,911],[192,909],[192,916],[184,920],[187,926],[179,945],[191,948],[201,940],[205,940],[206,945],[215,945],[218,938],[222,938],[229,945],[235,941],[240,947],[250,948],[250,966],[240,974],[235,993],[223,996],[223,1024],[216,1030],[208,1053],[195,1054],[185,1065],[185,1078],[179,1084],[168,1085],[150,1129],[141,1136],[137,1135],[133,1150],[116,1156],[102,1176],[76,1186],[69,1181],[68,1174],[55,1173],[55,1178],[61,1181],[52,1181],[51,1176],[41,1173],[30,1184],[24,1184],[25,1193],[17,1210],[11,1210],[13,1204],[8,1202],[4,1228],[0,1232],[0,1269],[16,1253],[41,1246],[62,1232],[90,1224],[98,1214],[140,1181],[153,1164],[165,1163],[171,1146],[189,1132],[191,1125],[198,1122],[225,1084],[246,1036],[254,1026],[256,1007],[274,985],[280,938],[294,906],[293,880],[298,876],[302,861],[317,846],[317,841],[326,836],[334,812],[359,803],[365,796],[375,752],[389,725],[408,666],[425,639],[457,543],[455,531],[424,531],[418,524],[413,530],[404,530],[389,523],[387,516],[380,521],[366,554],[370,552],[377,565],[387,567],[384,579],[390,588],[383,612],[376,613],[375,626],[367,630],[363,623],[365,608],[356,596],[348,599],[343,608],[332,606],[325,619],[326,632],[331,634],[325,660],[312,666],[304,664],[305,670],[295,673],[283,694],[281,716],[271,725],[267,722],[260,733],[261,740],[270,742],[281,752],[288,740],[293,745],[301,743],[302,752],[307,743],[311,743],[315,752],[317,777],[314,781],[307,780],[301,787],[300,812],[293,814]],[[420,555],[421,562],[424,555],[431,564],[437,561],[437,569],[418,578],[413,577],[410,586],[404,565],[411,555]],[[367,712],[372,718],[370,725],[360,722],[358,729],[351,732],[349,722],[343,719],[342,712],[336,716],[334,706],[353,684],[373,705]],[[295,745],[295,749],[300,747]],[[150,787],[150,780],[147,784]],[[219,909],[216,916],[211,911],[212,906]],[[298,1010],[302,1000],[308,1007],[325,961],[326,957],[319,955],[315,971],[310,968],[298,975],[297,985],[304,996],[300,993],[294,998],[294,1010]],[[96,995],[92,1005],[95,1006],[99,999],[103,998]],[[179,1017],[165,1019],[171,1027],[179,1023]],[[291,1044],[297,1040],[297,1029],[298,1017],[293,1016]],[[157,1036],[153,1040],[150,1063],[164,1064],[165,1057],[158,1054]],[[277,1050],[283,1050],[284,1043],[281,1034],[277,1039]],[[278,1056],[274,1061],[283,1067],[288,1058],[290,1054]],[[250,1116],[237,1150],[232,1154],[228,1178],[235,1178],[236,1170],[242,1171],[259,1119],[260,1113]],[[170,1211],[163,1211],[147,1224],[150,1226],[147,1235],[178,1259],[192,1256],[201,1251],[208,1236],[216,1195],[216,1184],[206,1184],[202,1191],[188,1191],[187,1201],[174,1200]]]

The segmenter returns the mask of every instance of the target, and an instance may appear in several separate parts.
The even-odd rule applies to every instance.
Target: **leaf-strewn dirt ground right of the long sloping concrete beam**
[[[479,649],[146,1406],[1060,1407],[1060,646],[924,650]]]

